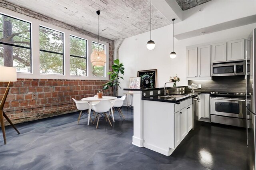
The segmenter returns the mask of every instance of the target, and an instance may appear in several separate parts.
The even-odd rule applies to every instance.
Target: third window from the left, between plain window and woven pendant
[[[70,36],[70,75],[86,76],[86,43],[82,38]]]

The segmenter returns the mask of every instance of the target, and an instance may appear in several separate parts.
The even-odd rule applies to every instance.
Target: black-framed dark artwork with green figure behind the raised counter
[[[140,77],[140,88],[148,89],[156,87],[156,69],[138,71]]]

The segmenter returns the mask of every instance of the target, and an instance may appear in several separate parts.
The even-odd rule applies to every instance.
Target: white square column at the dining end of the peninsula
[[[133,91],[133,136],[132,144],[143,147],[142,91]]]

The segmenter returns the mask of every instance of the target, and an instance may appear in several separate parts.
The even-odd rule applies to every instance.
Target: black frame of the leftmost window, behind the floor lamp
[[[25,47],[25,46],[22,46],[22,45],[16,45],[16,44],[10,44],[10,43],[4,43],[4,42],[0,42],[0,44],[9,45],[9,46],[13,46],[13,47],[24,48],[24,49],[30,49],[30,73],[23,73],[23,72],[17,72],[17,73],[32,74],[32,23],[28,22],[28,21],[25,21],[25,20],[22,20],[22,19],[19,19],[19,18],[15,18],[13,16],[9,16],[7,14],[3,14],[2,12],[0,12],[0,15],[7,16],[7,17],[13,18],[15,20],[20,20],[20,21],[26,22],[30,25],[30,32],[29,32],[29,34],[30,34],[30,47]]]

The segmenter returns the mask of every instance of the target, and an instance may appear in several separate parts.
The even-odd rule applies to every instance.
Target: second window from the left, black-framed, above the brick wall
[[[63,33],[39,27],[40,73],[63,75]]]

